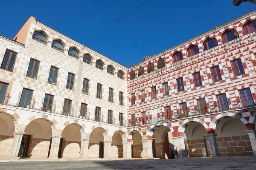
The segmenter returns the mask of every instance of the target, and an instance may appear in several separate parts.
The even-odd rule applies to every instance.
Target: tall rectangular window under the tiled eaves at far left
[[[1,68],[7,71],[13,71],[15,60],[16,60],[17,53],[6,50],[3,62],[1,64]]]

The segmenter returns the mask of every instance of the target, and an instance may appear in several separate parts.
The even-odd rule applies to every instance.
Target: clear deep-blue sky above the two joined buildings
[[[144,0],[3,1],[0,34],[13,38],[32,15],[86,45]],[[89,47],[129,67],[256,8],[232,1],[148,0]]]

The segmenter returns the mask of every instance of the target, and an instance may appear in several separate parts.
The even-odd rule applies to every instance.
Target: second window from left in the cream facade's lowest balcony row
[[[32,95],[33,95],[32,90],[23,88],[20,96],[19,107],[33,109],[35,105],[35,101],[32,100]]]

